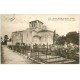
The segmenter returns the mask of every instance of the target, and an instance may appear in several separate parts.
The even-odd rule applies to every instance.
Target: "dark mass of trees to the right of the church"
[[[67,44],[73,43],[75,45],[79,45],[79,33],[69,32],[66,34],[66,36],[60,36],[56,40],[56,44],[58,44],[58,45],[64,45],[66,42],[67,42]]]

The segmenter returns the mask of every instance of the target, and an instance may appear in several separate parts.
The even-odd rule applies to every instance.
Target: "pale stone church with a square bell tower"
[[[54,38],[57,38],[55,31],[50,31],[39,20],[29,22],[29,28],[23,31],[12,32],[12,45],[16,43],[33,44],[53,44]]]

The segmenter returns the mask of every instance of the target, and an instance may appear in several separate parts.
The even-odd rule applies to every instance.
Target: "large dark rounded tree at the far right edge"
[[[79,33],[69,32],[66,34],[67,43],[79,44]]]

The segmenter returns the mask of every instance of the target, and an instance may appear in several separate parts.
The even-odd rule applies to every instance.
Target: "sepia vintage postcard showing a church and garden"
[[[79,14],[2,14],[1,64],[79,64]]]

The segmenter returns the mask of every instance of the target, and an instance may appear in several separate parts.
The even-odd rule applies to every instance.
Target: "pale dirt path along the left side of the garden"
[[[32,61],[27,59],[27,56],[20,55],[8,49],[7,46],[2,46],[2,63],[3,64],[31,64]]]

